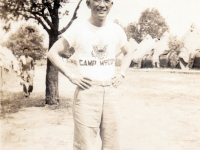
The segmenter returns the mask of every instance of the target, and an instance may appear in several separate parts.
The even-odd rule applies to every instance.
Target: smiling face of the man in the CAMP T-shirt
[[[88,7],[96,19],[105,19],[113,3],[112,0],[89,0]]]

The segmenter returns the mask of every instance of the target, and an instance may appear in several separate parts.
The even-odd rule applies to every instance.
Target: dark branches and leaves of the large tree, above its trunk
[[[69,3],[68,0],[1,0],[0,19],[6,22],[33,19],[41,24],[49,34],[58,36],[77,18],[76,12],[81,1],[79,1],[69,24],[60,31],[58,31],[59,19],[69,13],[68,10],[61,13],[60,8]],[[5,25],[4,29],[8,30],[9,27]]]

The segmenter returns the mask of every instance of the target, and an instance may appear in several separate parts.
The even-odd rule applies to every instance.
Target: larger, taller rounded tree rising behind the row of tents
[[[154,8],[148,8],[141,13],[138,25],[142,38],[149,34],[152,38],[160,39],[162,34],[169,30],[165,19],[160,15],[158,10]]]

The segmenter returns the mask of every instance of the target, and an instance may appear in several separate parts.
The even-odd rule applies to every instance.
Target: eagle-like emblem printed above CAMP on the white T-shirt
[[[103,59],[108,55],[107,52],[108,45],[93,45],[92,56],[99,59]]]

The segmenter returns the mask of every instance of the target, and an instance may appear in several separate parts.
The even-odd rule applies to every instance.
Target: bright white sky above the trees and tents
[[[90,10],[86,0],[83,0],[78,10],[79,20],[89,18]],[[141,12],[147,8],[156,8],[169,25],[170,33],[179,38],[182,37],[194,23],[200,29],[200,0],[113,0],[114,5],[108,15],[108,19],[115,19],[126,26],[131,22],[138,22]],[[69,15],[60,20],[60,28],[64,27],[74,12],[78,0],[71,0],[64,9],[69,10]],[[15,25],[15,29],[16,29]],[[18,25],[19,26],[19,25]],[[40,26],[41,31],[43,28]],[[14,30],[14,28],[13,28]],[[42,31],[46,36],[47,33]],[[4,34],[0,31],[0,36]],[[2,36],[1,36],[2,37]],[[5,36],[6,38],[6,36]],[[45,40],[48,43],[48,37]]]

